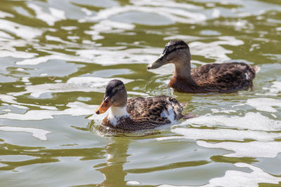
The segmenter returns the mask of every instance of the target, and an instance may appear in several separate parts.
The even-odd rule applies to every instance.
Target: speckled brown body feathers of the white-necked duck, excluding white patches
[[[149,130],[160,125],[171,123],[168,118],[162,117],[161,113],[171,107],[174,111],[175,120],[183,117],[181,104],[169,96],[157,97],[133,97],[128,99],[126,111],[130,117],[122,117],[118,125],[114,127],[110,120],[103,119],[98,130],[104,133],[127,133],[136,130]]]

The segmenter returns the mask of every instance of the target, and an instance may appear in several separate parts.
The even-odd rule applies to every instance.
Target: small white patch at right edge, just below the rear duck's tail
[[[253,106],[258,111],[277,112],[273,106],[281,107],[281,101],[271,98],[254,98],[248,99],[247,104]]]

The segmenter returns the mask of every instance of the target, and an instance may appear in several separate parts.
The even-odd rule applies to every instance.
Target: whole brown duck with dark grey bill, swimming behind
[[[160,57],[148,66],[156,69],[164,64],[175,65],[168,87],[178,92],[236,92],[253,88],[259,67],[243,62],[205,64],[191,69],[190,49],[184,41],[170,41]]]

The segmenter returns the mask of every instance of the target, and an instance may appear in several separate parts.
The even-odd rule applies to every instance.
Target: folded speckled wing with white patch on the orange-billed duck
[[[128,99],[126,110],[133,120],[157,124],[171,123],[183,117],[181,104],[174,97],[165,95],[133,97]]]

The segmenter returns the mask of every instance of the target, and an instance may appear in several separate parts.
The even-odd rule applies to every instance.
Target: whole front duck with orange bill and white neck
[[[151,130],[161,125],[175,123],[181,118],[183,105],[174,97],[132,97],[127,99],[127,92],[122,81],[114,79],[107,83],[105,94],[96,114],[110,109],[97,129],[105,134],[124,134],[138,130]]]

